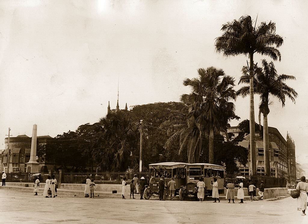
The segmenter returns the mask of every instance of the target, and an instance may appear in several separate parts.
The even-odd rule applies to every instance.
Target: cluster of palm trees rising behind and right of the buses
[[[256,165],[256,138],[254,117],[254,94],[260,95],[259,120],[263,114],[263,141],[265,150],[265,172],[270,175],[270,150],[267,125],[269,114],[269,96],[277,97],[282,106],[285,105],[286,96],[294,103],[297,92],[284,83],[285,80],[295,79],[291,75],[278,75],[274,63],[262,60],[262,67],[253,62],[253,55],[259,53],[273,60],[281,61],[278,50],[283,43],[283,38],[276,34],[274,22],[261,22],[256,27],[249,15],[242,16],[239,20],[233,20],[222,25],[223,34],[215,40],[217,52],[222,52],[226,57],[245,55],[249,57],[247,67],[243,67],[240,83],[249,83],[249,86],[241,87],[237,92],[233,89],[234,79],[225,75],[224,71],[214,67],[206,70],[198,69],[198,78],[185,79],[184,85],[190,86],[190,94],[181,96],[181,102],[186,105],[187,112],[178,112],[169,119],[169,127],[174,129],[174,134],[166,143],[180,139],[181,147],[187,146],[188,162],[198,161],[200,156],[201,141],[209,141],[209,162],[213,163],[213,134],[215,131],[225,131],[231,119],[238,118],[235,107],[230,100],[236,100],[238,95],[250,97],[249,122],[250,122],[250,168],[252,175],[257,174]],[[181,149],[180,149],[181,150]]]

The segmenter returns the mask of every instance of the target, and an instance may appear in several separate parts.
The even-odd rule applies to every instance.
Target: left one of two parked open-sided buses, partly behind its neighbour
[[[173,177],[176,182],[175,195],[178,195],[179,190],[186,184],[186,164],[188,163],[164,162],[150,164],[149,168],[151,178],[149,185],[147,185],[144,190],[144,198],[150,199],[151,196],[157,196],[159,194],[158,181],[162,175],[165,176],[164,200],[166,200],[169,195],[169,188],[167,184],[171,180],[171,177]]]

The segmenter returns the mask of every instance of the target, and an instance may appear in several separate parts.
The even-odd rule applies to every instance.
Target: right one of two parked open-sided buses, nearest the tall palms
[[[197,198],[197,183],[199,178],[203,177],[205,183],[205,197],[212,195],[213,186],[211,182],[213,178],[217,178],[218,192],[224,191],[224,167],[209,163],[193,163],[186,164],[186,185],[180,191],[180,200],[184,198]]]

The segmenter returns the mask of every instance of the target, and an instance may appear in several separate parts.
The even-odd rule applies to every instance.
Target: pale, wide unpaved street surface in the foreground
[[[277,201],[157,201],[120,198],[56,198],[0,188],[0,223],[308,223],[296,199]]]

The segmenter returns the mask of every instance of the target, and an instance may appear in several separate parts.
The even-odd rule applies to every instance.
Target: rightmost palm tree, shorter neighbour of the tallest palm
[[[250,82],[250,75],[247,67],[242,69],[243,75],[240,78],[240,83],[248,84]],[[297,92],[284,83],[285,80],[295,80],[292,75],[278,75],[274,63],[267,63],[265,59],[262,60],[262,68],[257,67],[253,77],[253,91],[260,95],[259,104],[259,123],[261,124],[261,113],[263,114],[263,148],[264,148],[264,165],[265,175],[270,176],[270,149],[269,149],[269,133],[267,124],[267,115],[270,113],[269,96],[272,95],[281,101],[282,107],[285,106],[286,96],[295,103]],[[249,86],[243,86],[237,91],[237,95],[243,97],[249,95]]]

